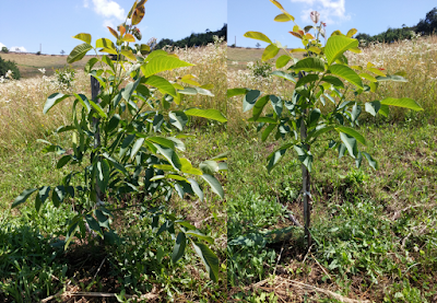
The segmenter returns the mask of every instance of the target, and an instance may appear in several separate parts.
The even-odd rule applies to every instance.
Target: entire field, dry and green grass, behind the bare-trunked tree
[[[436,302],[436,46],[433,36],[349,57],[406,72],[408,83],[383,84],[370,100],[408,96],[425,110],[363,116],[359,132],[369,138],[366,150],[378,171],[338,159],[324,142],[311,150],[318,164],[311,174],[309,253],[302,229],[288,219],[293,213],[303,222],[299,162],[287,152],[268,174],[267,155],[285,142],[262,142],[257,126],[246,123],[241,97],[229,100],[227,279],[235,302]],[[259,53],[235,48],[228,62],[255,61]],[[285,96],[293,89],[253,77],[244,65],[229,69],[228,88]]]

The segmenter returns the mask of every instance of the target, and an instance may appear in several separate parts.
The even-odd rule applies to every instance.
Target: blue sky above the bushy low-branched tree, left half
[[[66,54],[88,33],[93,42],[113,38],[106,25],[125,21],[134,0],[0,0],[0,44],[29,53]],[[185,38],[206,28],[216,31],[227,21],[227,0],[149,0],[139,28],[142,43],[151,37]]]

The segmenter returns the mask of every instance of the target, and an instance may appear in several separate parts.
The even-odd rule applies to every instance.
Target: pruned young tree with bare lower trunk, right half
[[[294,22],[280,2],[270,0],[281,10],[276,22]],[[288,62],[288,71],[273,71],[272,75],[283,78],[294,83],[291,98],[277,95],[263,95],[258,90],[232,89],[228,97],[245,95],[243,100],[244,112],[252,110],[249,121],[258,123],[258,130],[262,130],[262,140],[274,133],[276,140],[285,141],[279,149],[268,156],[267,168],[270,172],[275,167],[287,150],[294,150],[302,163],[302,195],[304,201],[304,221],[307,245],[311,245],[310,234],[310,197],[312,162],[315,155],[311,147],[320,141],[322,135],[335,133],[328,140],[330,149],[336,149],[340,156],[346,151],[355,160],[357,166],[365,158],[369,165],[377,168],[377,162],[358,145],[366,145],[366,139],[354,129],[358,126],[362,110],[371,115],[387,116],[389,106],[401,106],[414,110],[423,110],[413,100],[408,97],[386,97],[373,102],[351,101],[353,96],[363,93],[376,92],[380,82],[402,81],[403,73],[386,74],[381,69],[368,62],[366,66],[350,66],[346,51],[361,53],[358,40],[353,38],[356,30],[352,28],[346,35],[340,31],[332,33],[323,46],[320,37],[326,36],[326,24],[320,21],[320,14],[310,13],[314,24],[300,27],[295,24],[290,32],[300,39],[303,48],[285,49],[280,43],[273,43],[260,32],[247,32],[246,37],[262,40],[269,44],[262,55],[262,60],[275,58],[280,50],[285,53],[276,59],[276,68],[283,68]],[[304,59],[293,57],[295,53],[305,53]],[[333,109],[323,108],[326,102],[333,104]],[[262,115],[267,104],[271,104],[272,113]],[[324,110],[324,112],[323,112]],[[326,138],[326,137],[324,137]]]

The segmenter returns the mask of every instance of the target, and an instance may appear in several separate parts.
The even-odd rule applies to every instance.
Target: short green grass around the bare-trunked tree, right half
[[[321,155],[324,144],[312,151],[315,244],[308,255],[303,232],[286,229],[292,223],[281,207],[303,222],[296,200],[300,167],[293,152],[269,175],[265,156],[277,143],[260,142],[253,130],[229,140],[228,285],[235,295],[241,285],[287,272],[288,279],[349,298],[433,302],[437,128],[365,124],[361,132],[369,138],[367,151],[378,171],[367,164],[354,168],[354,160],[338,159],[336,151]],[[272,243],[269,231],[275,230],[286,237]]]

